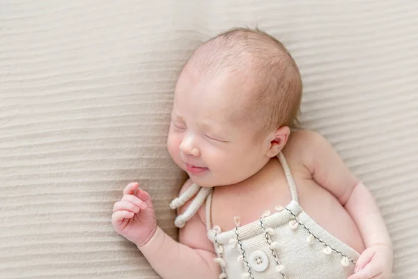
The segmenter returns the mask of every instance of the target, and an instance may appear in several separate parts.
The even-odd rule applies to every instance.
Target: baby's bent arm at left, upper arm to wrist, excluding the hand
[[[190,184],[187,181],[180,193]],[[138,248],[164,279],[210,279],[219,276],[219,264],[213,261],[215,250],[207,237],[206,225],[197,213],[180,229],[179,240],[180,243],[174,241],[157,227],[153,238]]]

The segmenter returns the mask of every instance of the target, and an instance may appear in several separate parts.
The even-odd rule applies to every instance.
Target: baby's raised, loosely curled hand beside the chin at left
[[[138,188],[138,183],[130,183],[123,190],[123,197],[114,204],[111,223],[118,234],[144,246],[154,236],[157,221],[153,201],[146,191]]]

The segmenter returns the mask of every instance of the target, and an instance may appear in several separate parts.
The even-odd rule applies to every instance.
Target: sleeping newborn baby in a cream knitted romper
[[[298,128],[301,96],[295,61],[267,33],[201,45],[176,84],[167,142],[189,174],[171,203],[179,242],[138,183],[114,204],[116,232],[164,279],[390,278],[378,207],[323,137]]]

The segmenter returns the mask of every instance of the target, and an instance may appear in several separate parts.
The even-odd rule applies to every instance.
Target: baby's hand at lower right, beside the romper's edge
[[[355,264],[354,274],[348,279],[392,278],[392,247],[378,244],[364,250]]]

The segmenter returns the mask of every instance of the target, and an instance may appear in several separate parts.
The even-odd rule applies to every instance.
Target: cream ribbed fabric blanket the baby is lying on
[[[208,3],[210,2],[210,3]],[[179,70],[255,26],[302,71],[303,123],[372,190],[397,279],[418,272],[418,1],[0,1],[0,278],[157,278],[111,227],[129,181],[169,199]]]

